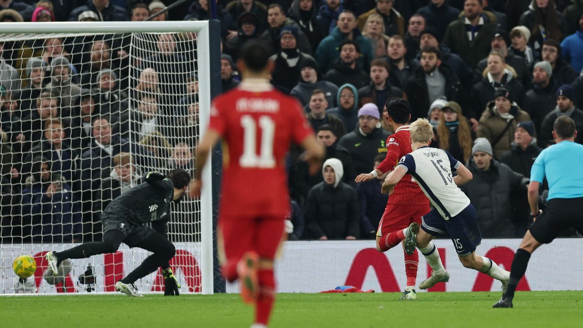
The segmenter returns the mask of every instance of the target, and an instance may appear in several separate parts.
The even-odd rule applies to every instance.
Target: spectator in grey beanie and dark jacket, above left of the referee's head
[[[522,108],[535,123],[536,135],[540,135],[540,125],[557,104],[556,92],[559,85],[553,78],[553,67],[548,61],[537,62],[532,76],[532,89],[526,92]]]

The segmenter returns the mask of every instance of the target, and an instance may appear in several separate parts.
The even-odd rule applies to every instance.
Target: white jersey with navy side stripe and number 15
[[[424,146],[403,156],[397,166],[413,176],[431,204],[448,220],[470,204],[468,196],[456,186],[452,177],[459,165],[461,162],[447,151]]]

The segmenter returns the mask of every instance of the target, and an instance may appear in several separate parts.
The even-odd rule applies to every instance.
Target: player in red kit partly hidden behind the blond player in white
[[[409,134],[411,109],[409,103],[401,98],[392,97],[385,104],[384,119],[395,130],[395,134],[387,138],[387,157],[370,173],[361,173],[354,179],[357,183],[373,180],[385,172],[391,171],[399,160],[412,152]],[[389,196],[387,207],[382,214],[377,230],[377,250],[385,252],[405,239],[405,233],[414,222],[421,224],[421,217],[427,213],[429,200],[419,188],[413,177],[406,175],[395,186],[395,192]],[[401,299],[416,299],[415,280],[419,253],[405,254],[405,273],[407,285]]]

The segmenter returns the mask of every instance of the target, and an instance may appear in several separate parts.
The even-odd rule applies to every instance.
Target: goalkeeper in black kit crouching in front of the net
[[[170,202],[178,203],[182,200],[190,176],[185,170],[175,169],[167,176],[159,172],[149,172],[144,179],[145,183],[115,198],[103,210],[103,242],[83,243],[62,252],[45,254],[48,267],[54,275],[65,259],[85,259],[96,254],[114,253],[124,243],[153,254],[115,284],[117,291],[129,296],[142,296],[134,282],[161,267],[166,285],[164,295],[178,295],[180,285],[168,263],[176,249],[166,236],[166,224],[170,218]],[[146,226],[146,222],[150,222],[152,228]]]

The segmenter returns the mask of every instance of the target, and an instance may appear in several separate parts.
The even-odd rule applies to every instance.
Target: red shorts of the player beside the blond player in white
[[[381,222],[378,222],[377,237],[405,229],[413,222],[421,225],[421,217],[430,211],[429,204],[387,204],[387,208],[382,214]]]

